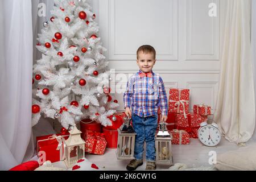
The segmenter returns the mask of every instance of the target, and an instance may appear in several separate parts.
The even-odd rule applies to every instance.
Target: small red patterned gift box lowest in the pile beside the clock
[[[189,144],[189,134],[185,130],[172,130],[172,144]]]

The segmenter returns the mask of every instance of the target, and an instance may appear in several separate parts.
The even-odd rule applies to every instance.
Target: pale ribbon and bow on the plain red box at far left
[[[66,148],[66,144],[65,144],[65,139],[63,137],[68,137],[69,135],[52,135],[50,137],[48,137],[47,139],[44,139],[44,140],[38,140],[38,143],[39,142],[42,142],[42,141],[46,141],[46,140],[57,140],[58,142],[58,146],[56,148],[56,150],[59,150],[60,151],[60,160],[64,160],[65,159],[65,148]],[[38,143],[37,143],[37,148],[38,148]],[[37,149],[38,151],[38,149]]]

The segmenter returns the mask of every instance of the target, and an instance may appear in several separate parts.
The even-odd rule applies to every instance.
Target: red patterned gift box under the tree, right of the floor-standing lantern
[[[103,133],[88,132],[85,139],[85,152],[104,155],[106,144],[107,142]]]

